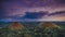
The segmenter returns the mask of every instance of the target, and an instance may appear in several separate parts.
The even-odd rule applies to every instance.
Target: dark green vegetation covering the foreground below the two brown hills
[[[61,28],[40,27],[14,29],[10,30],[6,27],[0,28],[0,37],[65,37],[65,27]]]

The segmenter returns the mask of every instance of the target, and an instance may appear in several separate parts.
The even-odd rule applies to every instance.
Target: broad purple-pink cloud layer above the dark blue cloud
[[[3,0],[2,11],[5,15],[25,15],[26,11],[56,11],[64,9],[61,7],[64,0]],[[61,9],[58,9],[61,8]],[[65,10],[65,9],[64,9]],[[4,15],[4,16],[5,16]]]

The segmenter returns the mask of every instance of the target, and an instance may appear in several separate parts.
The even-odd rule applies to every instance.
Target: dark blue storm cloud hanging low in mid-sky
[[[42,16],[47,15],[48,12],[26,12],[26,15],[24,15],[24,18],[41,18]]]

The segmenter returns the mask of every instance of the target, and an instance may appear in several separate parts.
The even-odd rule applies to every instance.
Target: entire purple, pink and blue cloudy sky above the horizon
[[[0,2],[0,22],[65,21],[65,0],[2,0]]]

